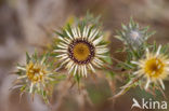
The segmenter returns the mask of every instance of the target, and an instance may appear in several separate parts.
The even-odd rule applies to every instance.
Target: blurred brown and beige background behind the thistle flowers
[[[58,106],[57,100],[64,92],[62,84],[54,92],[54,107],[51,109],[38,96],[32,102],[27,94],[20,103],[20,92],[9,89],[16,79],[12,72],[16,63],[24,63],[26,51],[42,51],[51,43],[53,29],[62,27],[69,16],[83,16],[87,11],[102,15],[104,30],[110,34],[109,48],[118,59],[123,56],[114,52],[122,44],[113,37],[121,23],[127,24],[131,16],[141,26],[151,26],[151,30],[156,30],[150,42],[156,40],[160,44],[169,43],[169,0],[0,0],[0,111],[56,111],[55,106]],[[169,82],[165,84],[165,94],[169,97]],[[58,111],[130,111],[133,97],[138,100],[165,100],[161,94],[157,93],[157,97],[153,97],[139,87],[130,89],[115,101],[108,100],[123,84],[113,80],[112,85],[109,87],[102,77],[95,81],[86,79],[87,91],[79,94],[77,89],[69,89],[62,98]],[[132,111],[142,110],[134,108]]]

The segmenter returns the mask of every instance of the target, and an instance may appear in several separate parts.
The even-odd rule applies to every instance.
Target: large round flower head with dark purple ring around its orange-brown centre
[[[67,26],[58,37],[60,43],[54,50],[68,73],[87,77],[88,69],[102,67],[105,53],[108,51],[103,42],[103,34],[92,25]]]

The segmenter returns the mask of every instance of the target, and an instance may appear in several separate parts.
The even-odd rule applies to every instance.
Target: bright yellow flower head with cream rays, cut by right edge
[[[139,66],[135,74],[144,75],[147,79],[145,88],[148,87],[151,82],[159,83],[165,89],[162,80],[169,75],[169,59],[164,54],[160,54],[161,46],[158,47],[156,54],[150,53],[146,50],[146,57],[140,61],[132,61]]]

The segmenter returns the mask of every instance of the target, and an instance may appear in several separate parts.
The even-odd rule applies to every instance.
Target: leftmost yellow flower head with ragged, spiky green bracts
[[[48,55],[38,57],[35,53],[32,56],[27,54],[27,63],[24,66],[17,65],[17,81],[22,84],[22,92],[40,94],[44,98],[50,94],[49,83],[53,81],[53,71],[50,64],[47,63]]]

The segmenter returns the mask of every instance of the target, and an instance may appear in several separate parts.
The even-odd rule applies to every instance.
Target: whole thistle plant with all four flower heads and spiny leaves
[[[48,97],[52,95],[54,83],[60,79],[57,75],[60,69],[66,69],[64,75],[68,78],[62,80],[65,81],[63,86],[66,88],[72,86],[69,84],[72,78],[79,83],[80,79],[96,73],[96,69],[104,72],[102,77],[108,80],[108,83],[125,71],[126,85],[114,98],[134,86],[151,92],[155,88],[165,89],[164,81],[169,77],[169,45],[157,46],[156,42],[150,44],[147,41],[155,32],[148,31],[148,27],[142,28],[132,18],[128,25],[122,24],[122,29],[117,30],[115,36],[123,43],[123,48],[117,51],[127,54],[123,61],[110,55],[100,17],[94,17],[92,14],[88,13],[86,17],[80,18],[74,17],[60,31],[55,30],[55,33],[56,38],[51,44],[52,50],[47,51],[51,51],[49,54],[38,55],[35,52],[29,56],[26,53],[25,65],[17,65],[18,77],[15,87],[20,87],[22,93],[27,92],[32,98],[35,94],[39,94],[49,102]],[[57,65],[53,64],[55,59]],[[113,64],[115,59],[118,61],[117,66]],[[107,72],[108,77],[105,74]],[[84,88],[83,91],[86,92]],[[64,94],[66,93],[63,93],[60,100]]]

